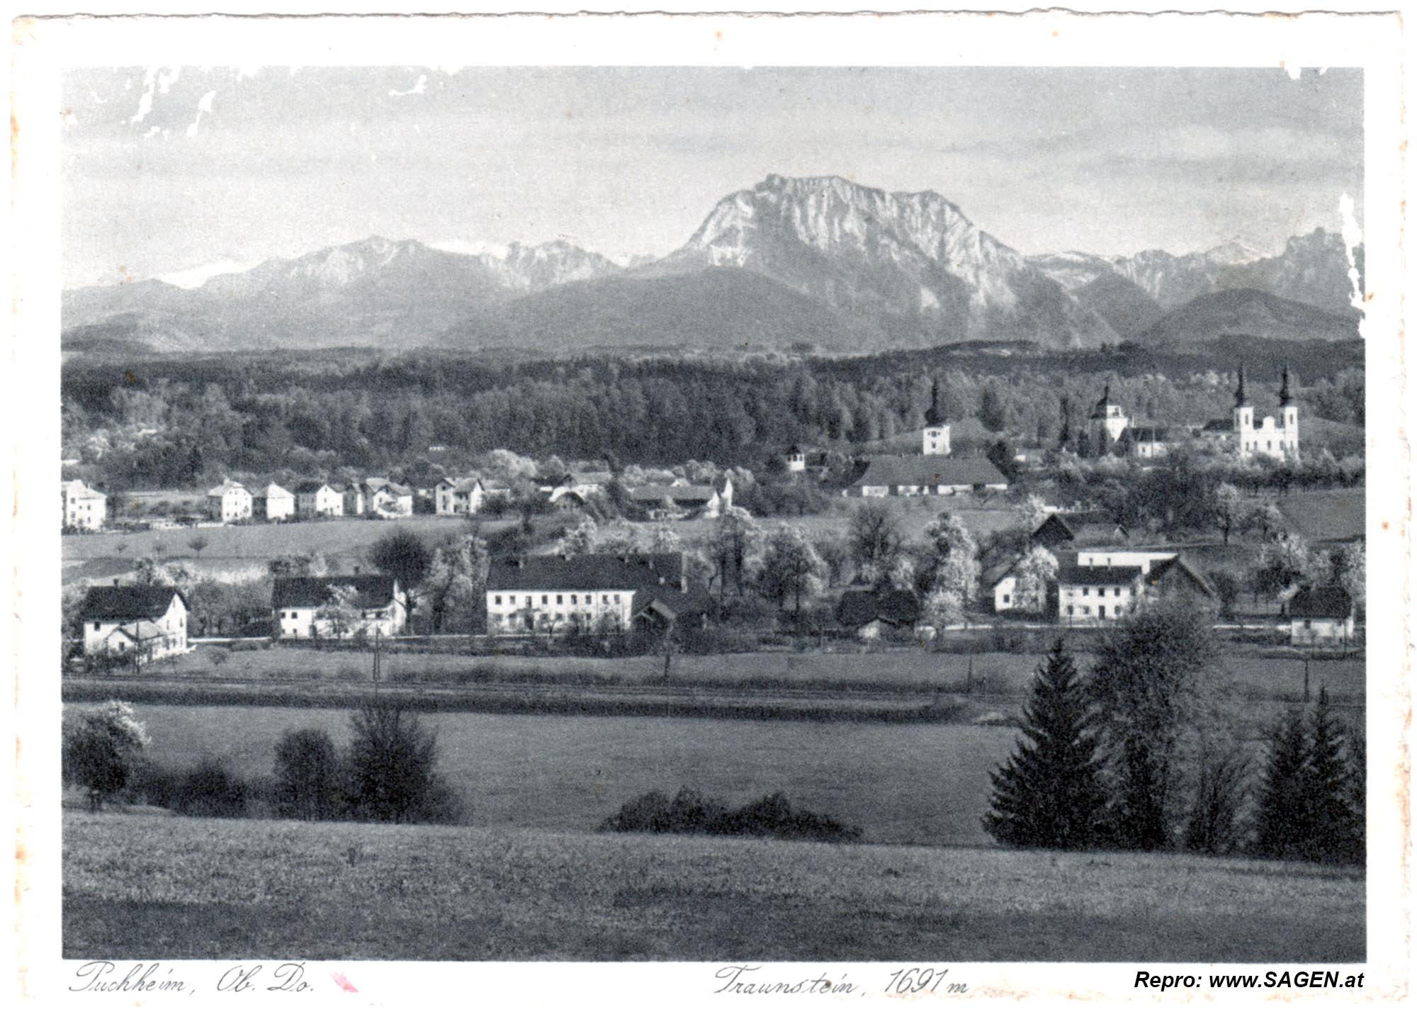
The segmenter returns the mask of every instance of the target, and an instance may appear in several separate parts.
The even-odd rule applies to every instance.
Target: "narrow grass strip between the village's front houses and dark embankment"
[[[357,680],[368,678],[370,653],[272,646],[261,651],[228,651],[201,646],[193,653],[153,668],[154,675],[203,675],[221,679],[313,678]],[[802,686],[870,685],[883,689],[961,692],[966,680],[975,693],[1022,699],[1040,658],[1032,653],[927,653],[924,651],[857,652],[771,652],[682,655],[673,660],[673,679],[680,685],[706,686]],[[1091,665],[1078,653],[1078,666]],[[490,680],[605,680],[621,685],[656,682],[665,670],[663,658],[519,658],[473,656],[468,653],[385,653],[384,678],[401,680],[456,680],[478,672]],[[1231,649],[1226,659],[1229,680],[1247,700],[1294,699],[1302,695],[1304,660],[1255,656]],[[971,673],[972,672],[972,673]],[[1326,686],[1338,703],[1363,702],[1365,662],[1362,658],[1315,659],[1309,663],[1311,690]]]

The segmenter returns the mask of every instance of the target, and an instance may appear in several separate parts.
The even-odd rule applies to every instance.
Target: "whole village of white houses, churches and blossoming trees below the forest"
[[[1278,421],[1268,415],[1255,421],[1243,369],[1229,422],[1134,424],[1108,387],[1078,434],[1085,456],[1068,456],[1071,466],[1134,461],[1138,473],[1155,469],[1172,449],[1187,459],[1288,465],[1299,459],[1299,421],[1287,369],[1278,408]],[[840,488],[830,486],[823,454],[785,448],[764,482],[812,489],[816,515],[799,520],[816,524],[822,533],[815,539],[802,533],[801,523],[760,522],[735,506],[735,472],[740,483],[754,483],[750,488],[764,497],[754,475],[741,468],[696,465],[697,480],[690,480],[683,469],[632,465],[612,472],[605,461],[592,461],[550,473],[445,475],[425,486],[366,478],[302,480],[289,490],[275,482],[252,490],[228,478],[205,493],[200,515],[128,520],[128,534],[113,532],[108,497],[72,479],[62,485],[64,527],[72,533],[67,544],[78,539],[75,544],[86,547],[78,532],[118,539],[137,537],[135,532],[145,527],[197,532],[187,558],[149,557],[139,566],[135,553],[125,573],[88,588],[77,611],[82,651],[74,656],[108,666],[122,659],[136,669],[204,642],[259,639],[261,628],[271,641],[422,636],[428,643],[428,636],[456,628],[476,635],[475,649],[486,651],[519,638],[585,651],[599,638],[602,651],[612,649],[611,641],[633,641],[633,649],[656,652],[666,636],[723,624],[768,635],[938,649],[965,629],[1084,628],[1170,598],[1219,625],[1267,631],[1291,646],[1349,651],[1360,643],[1360,601],[1353,590],[1363,573],[1360,496],[1308,495],[1332,506],[1325,517],[1331,526],[1315,529],[1315,510],[1301,493],[1291,493],[1294,502],[1287,503],[1284,496],[1246,499],[1224,486],[1207,505],[1219,513],[1219,543],[1197,540],[1196,532],[1179,541],[1152,540],[1105,509],[1044,500],[1039,489],[1046,488],[1040,476],[1047,468],[1030,466],[1026,455],[999,459],[1012,480],[992,456],[952,452],[938,387],[918,451],[856,458]],[[1067,466],[1057,454],[1053,458],[1054,469]],[[239,615],[191,614],[191,587],[203,580],[201,551],[218,529],[244,529],[259,539],[266,526],[313,524],[307,527],[313,537],[319,524],[367,519],[400,530],[400,522],[415,517],[424,522],[421,533],[410,532],[404,541],[412,558],[394,553],[371,566],[356,551],[322,558],[313,570],[310,557],[281,568],[272,551],[264,614],[251,607],[249,595]],[[907,546],[910,523],[930,544]],[[1238,537],[1231,546],[1231,529],[1257,534],[1251,573],[1216,566],[1217,558],[1240,557],[1231,551],[1240,549]],[[387,533],[364,530],[368,543]],[[446,595],[424,585],[429,560],[419,564],[419,557],[431,556],[439,540],[439,551],[455,554],[459,539],[465,550],[469,537],[476,541],[489,532],[490,540],[476,549],[480,558],[463,574],[480,594],[473,591],[469,602],[465,592],[456,605],[465,614],[449,621]],[[1339,561],[1298,558],[1309,553],[1311,541]],[[750,570],[748,583],[764,607],[745,609]],[[179,580],[162,583],[173,573]]]

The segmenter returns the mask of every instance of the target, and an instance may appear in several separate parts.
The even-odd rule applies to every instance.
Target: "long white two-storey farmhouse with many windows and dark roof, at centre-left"
[[[523,556],[487,570],[487,632],[628,632],[636,621],[707,617],[680,553]]]

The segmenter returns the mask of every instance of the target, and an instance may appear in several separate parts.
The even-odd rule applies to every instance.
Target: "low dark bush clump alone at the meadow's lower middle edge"
[[[730,809],[717,798],[706,798],[689,788],[680,788],[672,799],[659,791],[640,795],[626,802],[616,815],[605,819],[601,831],[772,836],[828,843],[850,843],[862,839],[860,826],[849,826],[830,815],[794,808],[781,792]]]

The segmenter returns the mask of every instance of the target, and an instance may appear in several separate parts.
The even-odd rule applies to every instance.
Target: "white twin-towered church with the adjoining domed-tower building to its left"
[[[1236,407],[1229,420],[1216,418],[1204,425],[1132,425],[1131,418],[1122,414],[1121,405],[1112,401],[1111,384],[1102,387],[1102,400],[1087,420],[1087,445],[1094,456],[1114,452],[1121,441],[1131,444],[1129,452],[1134,456],[1161,456],[1172,446],[1192,439],[1231,448],[1241,459],[1298,458],[1299,408],[1289,393],[1288,366],[1280,377],[1280,417],[1265,415],[1258,425],[1254,421],[1254,404],[1246,393],[1243,366],[1236,387]]]

